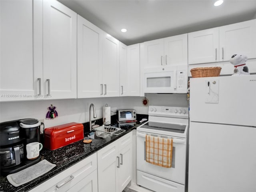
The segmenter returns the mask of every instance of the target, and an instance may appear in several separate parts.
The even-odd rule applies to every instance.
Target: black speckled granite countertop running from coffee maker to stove
[[[68,146],[64,146],[62,148],[56,150],[48,150],[43,148],[40,152],[41,160],[46,159],[50,163],[56,164],[56,166],[47,172],[46,174],[23,184],[18,187],[12,186],[7,180],[6,177],[0,177],[0,192],[26,192],[39,184],[42,184],[44,181],[50,179],[51,177],[55,176],[56,174],[60,173],[62,170],[74,165],[78,161],[90,156],[91,154],[95,153],[96,151],[100,150],[104,146],[114,142],[118,138],[128,134],[133,129],[135,129],[139,124],[137,124],[134,128],[130,128],[126,130],[126,132],[118,135],[118,136],[110,136],[108,138],[100,138],[92,140],[90,144],[84,144],[83,140],[77,141],[73,144]],[[85,137],[85,139],[89,139]]]

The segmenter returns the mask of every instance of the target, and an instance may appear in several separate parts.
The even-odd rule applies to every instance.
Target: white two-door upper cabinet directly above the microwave
[[[187,64],[187,34],[144,42],[144,68]]]

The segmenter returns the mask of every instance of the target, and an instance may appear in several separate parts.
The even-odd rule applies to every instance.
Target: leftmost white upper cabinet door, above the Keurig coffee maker
[[[42,1],[0,1],[0,47],[0,101],[42,99]]]

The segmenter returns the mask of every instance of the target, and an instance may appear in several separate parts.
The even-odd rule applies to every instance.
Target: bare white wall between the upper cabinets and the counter
[[[97,118],[102,118],[102,107],[107,103],[111,111],[133,108],[138,114],[148,114],[148,106],[142,104],[144,97],[86,98],[44,101],[0,102],[0,122],[21,118],[44,119],[45,127],[68,122],[88,122],[89,106],[95,105]],[[146,94],[149,105],[188,106],[186,94]],[[56,106],[58,117],[46,120],[47,108]],[[112,113],[114,114],[114,113]],[[93,118],[92,118],[93,119]]]

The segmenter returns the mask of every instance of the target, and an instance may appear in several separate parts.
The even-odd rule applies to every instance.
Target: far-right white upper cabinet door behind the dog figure
[[[220,61],[234,54],[256,58],[256,19],[220,27]]]

